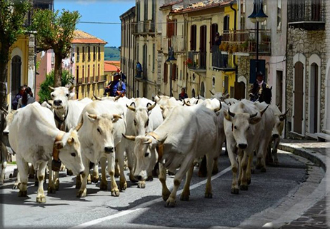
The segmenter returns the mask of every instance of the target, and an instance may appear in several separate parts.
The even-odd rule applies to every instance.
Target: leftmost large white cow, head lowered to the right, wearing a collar
[[[16,152],[19,170],[19,196],[26,196],[28,163],[37,170],[39,180],[36,202],[44,203],[44,174],[47,163],[60,160],[75,174],[84,171],[81,161],[80,142],[76,130],[69,133],[56,128],[54,114],[39,103],[31,103],[14,114],[9,126],[9,143]]]

